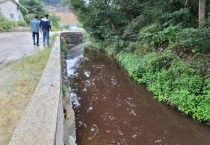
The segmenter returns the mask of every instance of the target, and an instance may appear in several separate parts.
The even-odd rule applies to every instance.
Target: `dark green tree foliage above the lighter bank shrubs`
[[[92,37],[110,44],[113,38],[138,40],[139,30],[158,23],[161,30],[181,25],[198,27],[198,1],[191,0],[68,0]],[[206,2],[207,11],[210,2]],[[207,16],[207,14],[206,14]],[[119,41],[118,40],[118,41]]]

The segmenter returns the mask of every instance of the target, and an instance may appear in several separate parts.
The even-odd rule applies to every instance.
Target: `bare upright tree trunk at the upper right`
[[[199,28],[205,25],[206,0],[199,0]]]

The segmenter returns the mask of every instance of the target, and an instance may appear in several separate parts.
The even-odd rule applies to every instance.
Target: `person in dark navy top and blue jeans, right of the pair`
[[[39,27],[43,32],[44,46],[45,46],[46,42],[47,42],[47,46],[50,46],[49,31],[51,30],[51,24],[50,24],[50,21],[48,20],[48,14],[45,15],[45,18],[41,19]]]

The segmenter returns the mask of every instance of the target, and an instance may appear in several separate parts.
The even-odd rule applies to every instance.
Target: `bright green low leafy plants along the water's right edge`
[[[210,79],[199,70],[176,59],[171,51],[144,57],[120,52],[117,60],[139,83],[145,83],[159,101],[175,106],[200,122],[210,122]]]

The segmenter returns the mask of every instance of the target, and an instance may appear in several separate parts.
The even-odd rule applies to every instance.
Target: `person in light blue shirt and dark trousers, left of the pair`
[[[39,46],[39,20],[38,20],[38,16],[35,16],[30,21],[30,30],[32,32],[32,38],[33,38],[34,45]],[[35,38],[36,38],[36,40],[35,40]]]

